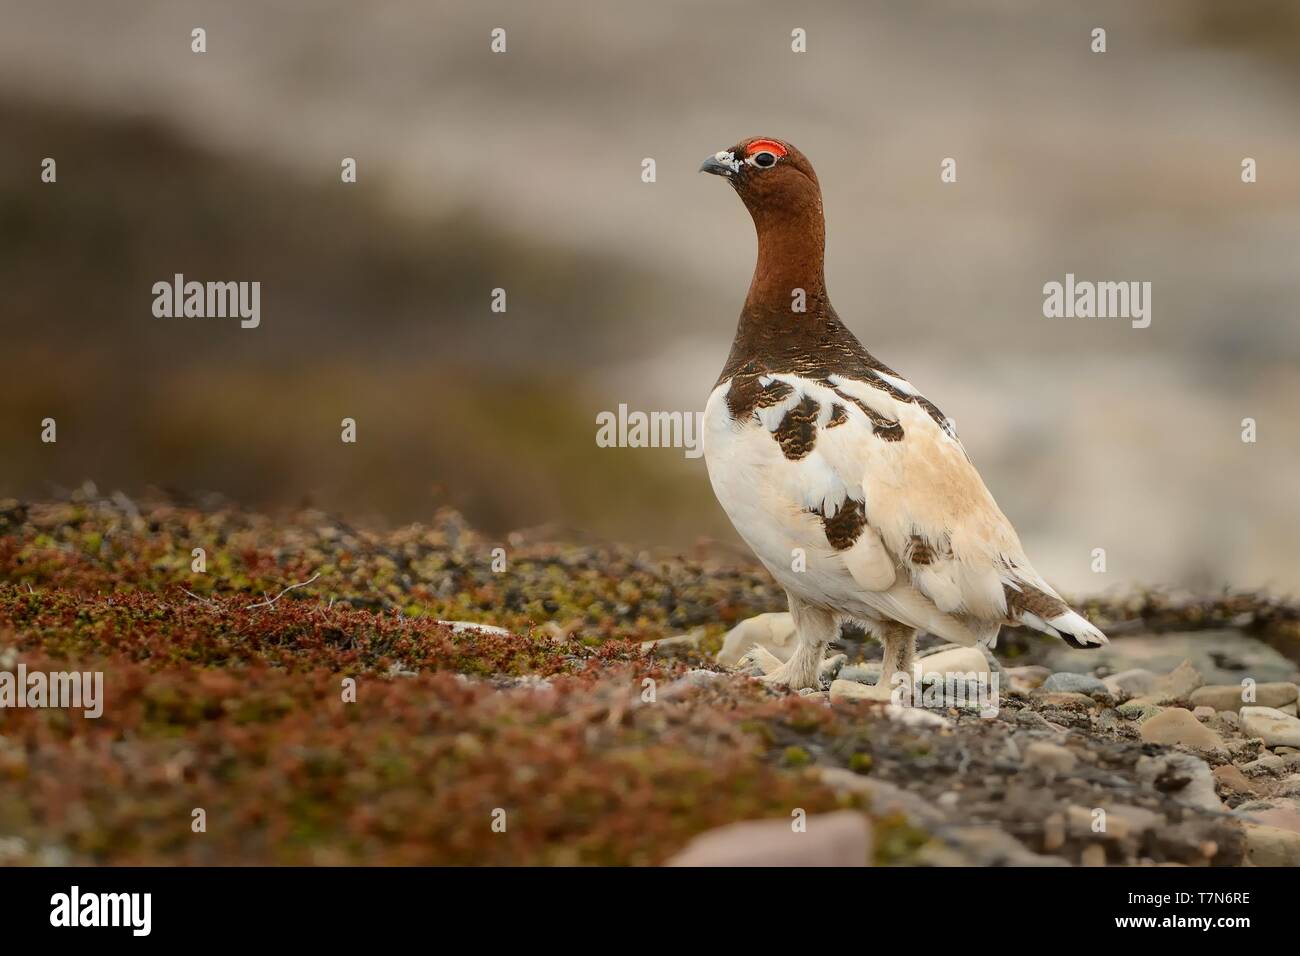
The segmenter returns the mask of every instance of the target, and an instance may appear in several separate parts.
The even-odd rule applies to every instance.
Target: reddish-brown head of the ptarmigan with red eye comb
[[[754,137],[720,150],[699,166],[725,178],[740,194],[754,221],[783,212],[820,212],[822,186],[807,157],[780,139]]]

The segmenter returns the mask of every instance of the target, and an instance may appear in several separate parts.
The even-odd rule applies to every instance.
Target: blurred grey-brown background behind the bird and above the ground
[[[1290,0],[0,0],[0,496],[738,544],[702,459],[595,416],[703,408],[754,241],[696,170],[763,134],[1050,580],[1300,583]],[[259,280],[261,326],[155,319],[178,272]],[[1152,282],[1150,328],[1044,319],[1066,272]]]

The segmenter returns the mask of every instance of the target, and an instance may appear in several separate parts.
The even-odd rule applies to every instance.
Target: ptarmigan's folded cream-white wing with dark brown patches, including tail
[[[811,459],[803,506],[832,546],[837,535],[848,544],[844,562],[868,604],[959,643],[991,640],[1006,622],[1105,641],[1032,568],[952,421],[906,380],[863,368],[759,385],[776,394],[755,415],[786,458]]]

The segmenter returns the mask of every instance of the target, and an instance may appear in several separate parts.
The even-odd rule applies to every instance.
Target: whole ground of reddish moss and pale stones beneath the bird
[[[1300,607],[1075,606],[1108,648],[923,639],[998,696],[907,708],[850,631],[755,680],[780,593],[703,546],[0,502],[0,671],[105,697],[0,710],[0,861],[1300,864]]]

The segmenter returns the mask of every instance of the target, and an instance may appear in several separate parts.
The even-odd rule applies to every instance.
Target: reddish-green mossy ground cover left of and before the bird
[[[368,533],[318,512],[79,494],[0,502],[0,670],[103,671],[107,698],[99,719],[0,711],[10,862],[656,864],[738,819],[870,812],[827,766],[936,786],[972,761],[982,786],[997,771],[979,721],[936,737],[740,676],[685,679],[707,654],[641,649],[699,628],[707,650],[780,609],[745,566],[497,542],[450,512]],[[1180,605],[1184,626],[1188,606],[1206,624],[1295,623],[1227,596]],[[1173,607],[1092,610],[1158,626]],[[1011,633],[1005,652],[1028,646]],[[931,839],[896,813],[876,829],[880,862]]]

